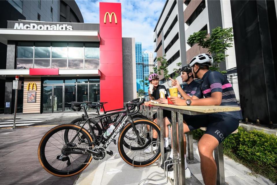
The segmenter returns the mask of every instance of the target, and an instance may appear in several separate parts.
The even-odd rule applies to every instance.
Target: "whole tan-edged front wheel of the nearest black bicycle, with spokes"
[[[157,146],[158,149],[156,151],[154,151],[151,154],[145,154],[143,149],[140,148],[145,148],[146,146],[148,146],[150,142],[148,142],[151,138],[153,138],[153,131],[150,132],[150,137],[147,138],[145,135],[141,136],[141,139],[143,141],[145,141],[144,144],[141,144],[138,139],[136,139],[135,141],[130,141],[129,139],[127,139],[125,137],[125,135],[128,132],[131,132],[130,130],[133,129],[131,123],[127,124],[126,127],[123,128],[122,132],[119,135],[118,138],[118,151],[120,156],[122,157],[122,159],[127,162],[130,165],[136,166],[136,167],[143,167],[143,166],[148,166],[150,164],[152,164],[153,162],[155,162],[161,155],[160,153],[160,144],[159,144],[159,138],[160,138],[160,128],[159,126],[155,123],[152,122],[150,120],[135,120],[134,121],[135,127],[137,128],[142,128],[144,129],[144,131],[146,132],[146,130],[148,130],[148,128],[150,128],[150,131],[156,130],[156,133],[158,134],[158,139],[157,139]],[[126,142],[127,144],[129,144],[131,147],[134,148],[134,150],[127,148],[124,146],[123,142]],[[135,158],[134,158],[135,157]],[[133,162],[134,159],[134,162]],[[132,164],[133,163],[133,164]]]

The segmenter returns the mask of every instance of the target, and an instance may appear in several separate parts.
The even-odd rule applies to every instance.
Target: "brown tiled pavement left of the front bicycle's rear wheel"
[[[0,129],[0,184],[74,184],[78,176],[56,177],[38,161],[38,144],[52,127]]]

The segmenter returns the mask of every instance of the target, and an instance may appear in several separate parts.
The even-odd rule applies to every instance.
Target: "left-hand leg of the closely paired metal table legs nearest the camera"
[[[177,146],[178,146],[178,141],[177,141],[177,125],[176,125],[176,112],[171,111],[171,120],[172,120],[172,133],[171,133],[171,139],[172,139],[172,149],[173,149],[173,158],[176,159],[178,157],[178,151],[177,151]],[[180,139],[179,139],[180,141]],[[184,142],[179,142],[183,143]],[[179,185],[179,165],[174,164],[174,184]]]

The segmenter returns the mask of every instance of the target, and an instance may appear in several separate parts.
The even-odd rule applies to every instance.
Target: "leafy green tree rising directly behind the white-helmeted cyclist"
[[[197,43],[199,45],[199,53],[200,47],[207,48],[208,52],[213,56],[213,66],[210,69],[226,73],[226,71],[220,71],[219,64],[228,56],[225,51],[232,47],[233,36],[233,28],[217,27],[212,30],[210,37],[207,36],[206,31],[199,31],[190,35],[188,42]]]

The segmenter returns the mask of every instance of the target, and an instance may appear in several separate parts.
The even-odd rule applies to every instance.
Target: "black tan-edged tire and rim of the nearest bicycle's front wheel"
[[[156,131],[157,131],[157,134],[158,134],[158,138],[160,137],[160,128],[159,126],[153,122],[153,121],[150,121],[150,120],[135,120],[134,121],[134,124],[135,125],[138,125],[138,124],[146,124],[146,125],[149,125],[150,127],[154,128]],[[129,153],[129,151],[125,151],[124,150],[124,144],[123,144],[123,140],[124,140],[124,135],[127,133],[127,131],[132,128],[131,126],[131,123],[127,124],[122,132],[120,133],[119,137],[118,137],[118,152],[120,154],[120,156],[122,157],[122,159],[129,165],[133,165],[133,158],[130,158],[132,157],[132,155],[129,157],[127,156],[127,153]],[[126,148],[125,148],[126,149]],[[127,148],[128,150],[128,148]],[[151,156],[151,158],[149,158],[148,160],[145,160],[145,161],[136,161],[134,160],[134,166],[135,167],[143,167],[143,166],[148,166],[152,163],[154,163],[161,155],[161,151],[160,151],[160,147],[158,147],[158,150],[157,152]]]

